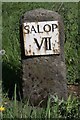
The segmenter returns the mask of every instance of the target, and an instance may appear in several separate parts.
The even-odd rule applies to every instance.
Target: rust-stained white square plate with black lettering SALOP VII
[[[23,23],[26,56],[60,54],[58,21]]]

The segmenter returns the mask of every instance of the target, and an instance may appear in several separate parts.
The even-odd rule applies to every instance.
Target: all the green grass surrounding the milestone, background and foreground
[[[77,98],[69,96],[67,101],[57,96],[49,97],[46,108],[29,105],[29,101],[17,101],[21,91],[21,50],[19,37],[19,20],[26,11],[45,8],[58,12],[64,21],[65,59],[67,81],[75,83],[80,80],[80,40],[78,36],[78,3],[8,3],[2,4],[2,47],[3,56],[3,97],[5,111],[3,118],[79,118],[80,103]],[[11,93],[12,91],[12,93]],[[12,98],[13,100],[9,100]],[[51,101],[52,104],[51,104]]]

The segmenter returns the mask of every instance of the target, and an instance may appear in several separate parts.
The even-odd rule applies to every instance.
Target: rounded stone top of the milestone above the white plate
[[[39,9],[27,11],[26,13],[24,13],[24,15],[22,15],[22,18],[21,18],[21,23],[25,21],[29,21],[29,22],[50,21],[50,20],[60,21],[60,18],[61,16],[55,11],[39,8]]]

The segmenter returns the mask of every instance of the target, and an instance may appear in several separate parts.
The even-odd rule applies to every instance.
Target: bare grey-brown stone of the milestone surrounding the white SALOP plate
[[[60,54],[25,56],[22,24],[24,22],[58,21]],[[50,10],[26,12],[20,21],[23,96],[32,105],[46,103],[49,95],[67,98],[66,66],[64,57],[64,26],[61,16]]]

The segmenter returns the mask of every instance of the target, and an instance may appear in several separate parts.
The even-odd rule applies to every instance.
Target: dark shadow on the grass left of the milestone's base
[[[23,98],[21,69],[16,68],[10,63],[2,65],[2,90],[7,93],[10,99],[14,99],[14,87],[17,85],[17,100]]]

